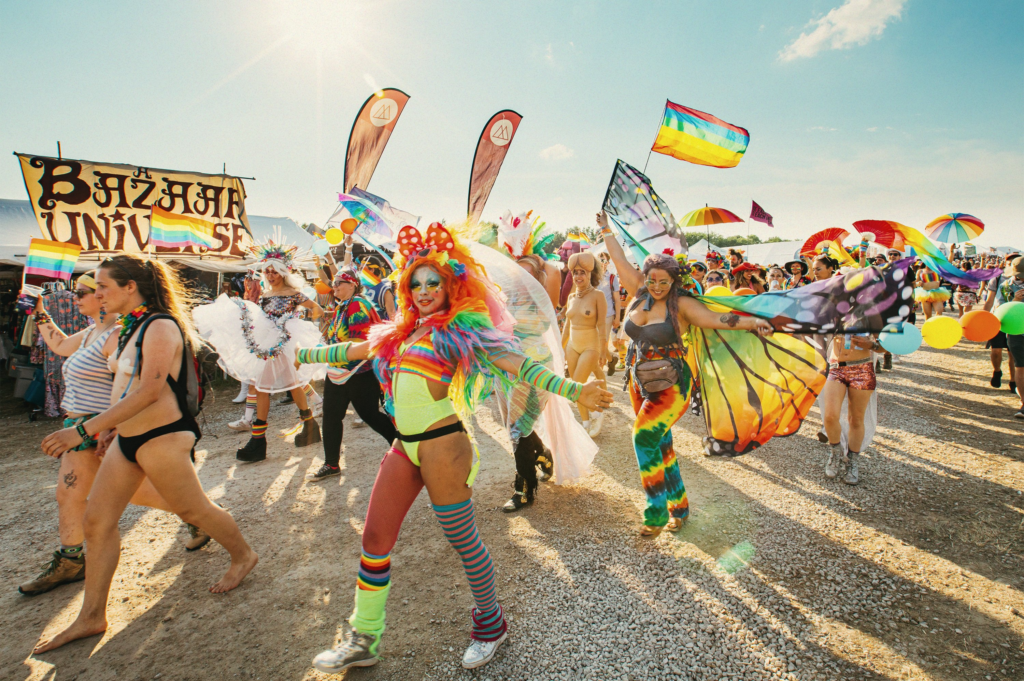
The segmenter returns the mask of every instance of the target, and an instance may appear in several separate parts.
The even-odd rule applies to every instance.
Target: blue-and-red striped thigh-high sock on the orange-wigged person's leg
[[[490,554],[476,531],[473,500],[434,506],[434,513],[441,523],[444,537],[459,553],[463,567],[466,568],[466,579],[469,580],[469,588],[476,602],[476,607],[473,608],[473,638],[478,641],[501,638],[508,625],[495,592],[495,567],[490,562]]]

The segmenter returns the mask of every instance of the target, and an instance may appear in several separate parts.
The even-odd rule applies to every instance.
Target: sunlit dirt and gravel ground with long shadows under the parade
[[[987,351],[919,350],[880,379],[879,432],[858,487],[828,482],[817,414],[796,435],[736,460],[699,454],[702,425],[676,427],[692,514],[678,536],[637,537],[643,496],[628,399],[599,437],[594,474],[544,485],[518,514],[498,511],[514,473],[507,439],[478,414],[474,495],[511,637],[467,673],[469,591],[426,496],[392,555],[385,659],[350,679],[662,679],[1024,677],[1024,422],[988,387]],[[5,387],[5,394],[9,388]],[[237,466],[245,437],[233,391],[206,412],[200,476],[261,561],[227,595],[211,545],[182,548],[174,517],[130,507],[111,594],[111,629],[29,657],[67,626],[80,585],[36,598],[18,584],[56,545],[52,422],[0,414],[0,679],[315,679],[309,661],[347,618],[359,531],[384,442],[346,422],[342,476],[308,483],[317,448],[275,434],[266,463]],[[275,407],[271,433],[295,408]],[[337,677],[335,677],[337,678]]]

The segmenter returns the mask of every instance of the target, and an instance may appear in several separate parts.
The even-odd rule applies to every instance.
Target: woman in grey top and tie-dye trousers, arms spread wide
[[[708,309],[686,291],[689,274],[671,255],[649,255],[637,271],[612,237],[604,212],[597,214],[597,225],[623,286],[635,296],[623,325],[630,337],[626,381],[636,414],[633,448],[647,496],[640,535],[656,537],[663,529],[677,531],[689,515],[672,426],[686,413],[695,382],[691,327],[743,329],[759,335],[770,335],[772,327],[758,317]]]

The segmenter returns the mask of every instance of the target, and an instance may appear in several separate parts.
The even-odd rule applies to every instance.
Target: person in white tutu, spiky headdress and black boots
[[[325,372],[311,367],[296,370],[293,364],[296,346],[315,345],[321,340],[319,328],[299,318],[300,313],[308,309],[312,318],[318,320],[324,309],[301,292],[302,280],[292,268],[297,250],[280,240],[253,247],[252,254],[258,258],[254,268],[263,275],[258,305],[220,296],[193,310],[196,328],[217,350],[221,368],[240,381],[249,381],[256,390],[256,418],[250,438],[234,455],[243,463],[266,460],[266,419],[272,393],[290,392],[299,408],[301,424],[295,445],[321,441],[319,426],[304,388],[323,378]]]

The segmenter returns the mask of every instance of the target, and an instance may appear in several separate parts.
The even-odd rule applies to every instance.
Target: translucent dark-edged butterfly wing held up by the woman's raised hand
[[[676,227],[669,205],[654,193],[647,176],[620,160],[604,195],[604,212],[627,237],[637,264],[651,253],[686,253],[686,240]]]

